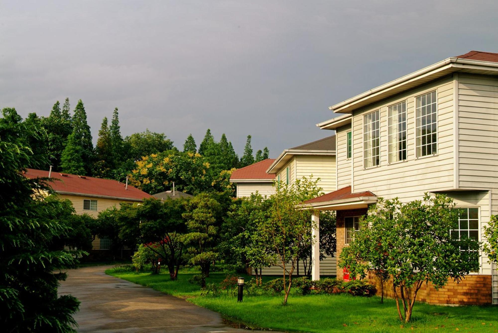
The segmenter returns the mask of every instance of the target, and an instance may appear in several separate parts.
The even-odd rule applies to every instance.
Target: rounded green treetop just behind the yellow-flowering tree
[[[134,133],[124,139],[128,158],[138,161],[142,156],[158,154],[174,149],[173,142],[166,139],[164,133],[151,132],[148,129],[145,132]]]

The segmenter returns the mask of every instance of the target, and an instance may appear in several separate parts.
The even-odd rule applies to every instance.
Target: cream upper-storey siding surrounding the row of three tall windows
[[[453,80],[446,77],[388,98],[353,113],[353,192],[372,191],[379,197],[402,201],[420,199],[424,192],[454,186]],[[437,91],[438,155],[415,158],[415,97]],[[406,101],[406,161],[388,164],[387,107]],[[364,168],[363,116],[380,109],[380,166]],[[344,138],[346,136],[344,135]],[[346,140],[344,140],[344,145]],[[339,179],[338,183],[341,184]]]

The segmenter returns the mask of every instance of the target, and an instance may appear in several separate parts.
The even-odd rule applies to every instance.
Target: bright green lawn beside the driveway
[[[193,270],[183,270],[177,281],[169,280],[164,273],[116,273],[112,269],[106,273],[185,297],[225,318],[255,328],[295,332],[400,332],[412,328],[417,332],[498,332],[498,307],[493,306],[443,307],[419,303],[414,307],[412,322],[401,324],[394,301],[388,299],[381,304],[379,297],[291,295],[288,305],[282,306],[283,296],[245,296],[243,303],[237,303],[235,297],[226,295],[201,297],[199,286],[188,282],[196,274]],[[212,273],[207,282],[220,282],[225,276],[226,273]]]

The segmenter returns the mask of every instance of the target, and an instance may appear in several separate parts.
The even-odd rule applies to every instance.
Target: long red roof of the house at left
[[[28,178],[48,177],[48,171],[26,169],[24,176]],[[47,184],[57,192],[98,195],[131,200],[141,200],[151,197],[150,194],[130,185],[128,185],[128,189],[125,189],[124,183],[112,179],[87,176],[80,177],[74,174],[54,171],[52,171],[50,178],[54,181],[47,182]]]

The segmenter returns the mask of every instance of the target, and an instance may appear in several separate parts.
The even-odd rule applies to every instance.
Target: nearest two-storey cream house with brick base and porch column
[[[486,241],[483,227],[498,214],[498,54],[447,58],[330,109],[343,115],[317,126],[337,133],[337,187],[304,206],[316,221],[320,210],[337,211],[338,254],[377,197],[406,202],[424,192],[445,193],[462,209],[453,232]],[[319,279],[316,255],[313,262]],[[441,291],[424,286],[418,298],[498,304],[497,267],[485,253],[479,271],[464,282]]]

